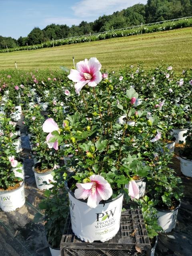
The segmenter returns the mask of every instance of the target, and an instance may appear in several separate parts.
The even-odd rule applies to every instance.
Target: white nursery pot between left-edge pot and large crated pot
[[[36,172],[36,168],[41,165],[41,162],[38,162],[34,164],[32,167],[32,170],[34,171],[35,175],[35,181],[36,181],[36,186],[39,190],[44,190],[44,189],[49,189],[52,188],[53,185],[50,184],[50,180],[54,181],[53,176],[51,174],[52,170],[50,172]],[[44,184],[43,182],[47,182],[47,184]]]

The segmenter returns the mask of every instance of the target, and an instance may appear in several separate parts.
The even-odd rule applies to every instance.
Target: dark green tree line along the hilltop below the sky
[[[41,44],[54,40],[80,36],[84,34],[104,32],[108,30],[125,28],[141,23],[152,23],[162,20],[172,20],[192,15],[192,0],[148,0],[147,4],[134,6],[114,12],[111,15],[100,16],[94,22],[82,21],[78,26],[50,24],[44,29],[35,27],[26,37],[20,36],[18,40],[11,37],[0,36],[0,49],[14,48]]]

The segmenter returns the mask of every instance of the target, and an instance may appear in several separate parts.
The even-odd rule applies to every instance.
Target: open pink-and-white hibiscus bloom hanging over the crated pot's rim
[[[74,195],[77,199],[86,199],[90,208],[96,208],[101,200],[107,200],[112,196],[112,188],[110,184],[100,175],[92,175],[89,177],[88,183],[76,183],[78,187]]]

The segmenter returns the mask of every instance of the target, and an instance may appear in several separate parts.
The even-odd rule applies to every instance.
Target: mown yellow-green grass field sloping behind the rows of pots
[[[73,65],[84,58],[97,57],[102,67],[118,70],[125,64],[143,63],[144,68],[160,62],[171,64],[176,72],[192,67],[192,28],[155,32],[138,36],[114,38],[43,48],[39,50],[0,53],[0,68],[59,68]]]

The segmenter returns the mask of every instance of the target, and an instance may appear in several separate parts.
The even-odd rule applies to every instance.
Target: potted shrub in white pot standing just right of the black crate
[[[148,196],[154,202],[158,224],[164,232],[170,232],[176,225],[178,208],[182,197],[181,178],[173,169],[159,161],[148,179]]]

